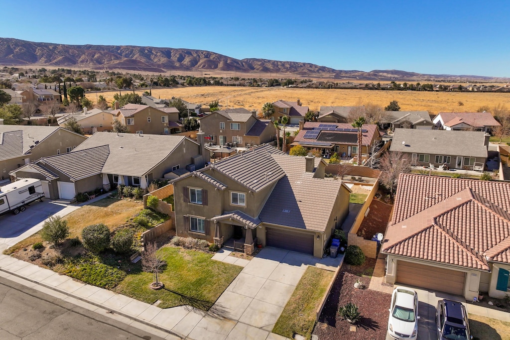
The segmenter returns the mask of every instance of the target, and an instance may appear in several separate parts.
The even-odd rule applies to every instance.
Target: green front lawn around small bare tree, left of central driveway
[[[164,289],[151,290],[152,274],[138,271],[127,275],[114,291],[150,304],[161,300],[161,308],[187,304],[208,310],[242,270],[202,251],[164,247],[159,252],[167,263],[160,277]]]

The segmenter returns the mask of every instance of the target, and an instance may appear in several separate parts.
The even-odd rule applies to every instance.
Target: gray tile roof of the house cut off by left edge
[[[35,142],[42,142],[62,127],[0,125],[0,161],[27,154]]]

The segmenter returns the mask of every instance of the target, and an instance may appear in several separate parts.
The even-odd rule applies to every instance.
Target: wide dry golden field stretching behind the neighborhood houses
[[[113,95],[119,91],[109,91],[102,94],[109,103]],[[122,93],[129,91],[122,91]],[[143,90],[137,90],[142,94]],[[494,107],[498,104],[510,106],[510,93],[471,93],[471,92],[417,92],[417,91],[376,91],[376,90],[342,90],[342,89],[296,89],[296,88],[259,88],[259,87],[176,87],[170,89],[154,89],[152,96],[159,98],[180,97],[189,102],[208,104],[219,99],[220,105],[232,108],[246,108],[261,110],[264,103],[278,99],[295,101],[300,99],[304,106],[311,110],[319,110],[321,106],[354,106],[356,103],[375,103],[387,106],[392,100],[397,100],[401,111],[429,111],[438,112],[461,111],[473,112],[481,106]],[[96,94],[87,97],[94,101]],[[459,102],[464,105],[460,106]]]

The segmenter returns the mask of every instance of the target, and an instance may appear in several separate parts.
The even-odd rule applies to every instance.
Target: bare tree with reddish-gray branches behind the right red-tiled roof
[[[411,173],[411,159],[409,155],[402,152],[386,152],[381,158],[380,170],[382,186],[393,194],[397,189],[400,174]]]

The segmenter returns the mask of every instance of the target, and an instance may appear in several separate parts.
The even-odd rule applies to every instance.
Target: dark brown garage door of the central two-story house
[[[314,234],[288,229],[266,228],[266,245],[300,253],[314,254]]]

